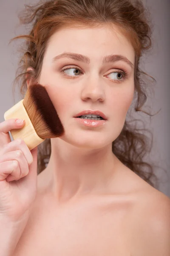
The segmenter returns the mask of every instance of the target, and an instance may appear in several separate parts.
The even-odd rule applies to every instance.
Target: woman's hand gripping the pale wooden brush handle
[[[0,220],[11,222],[28,218],[37,192],[37,147],[11,142],[8,131],[25,125],[16,120],[0,123]]]

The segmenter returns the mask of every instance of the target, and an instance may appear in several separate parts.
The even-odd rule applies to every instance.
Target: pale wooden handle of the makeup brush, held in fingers
[[[4,118],[5,120],[11,119],[11,118],[18,118],[18,119],[25,120],[26,124],[24,125],[23,128],[13,129],[10,132],[14,140],[16,140],[17,138],[24,140],[29,150],[37,147],[37,145],[39,145],[45,140],[40,138],[37,135],[34,129],[34,126],[32,125],[31,120],[26,112],[26,109],[24,108],[23,99],[17,104],[15,104],[8,111],[6,111],[4,114]]]

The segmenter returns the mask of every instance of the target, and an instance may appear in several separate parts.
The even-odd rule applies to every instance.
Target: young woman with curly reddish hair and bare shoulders
[[[45,1],[22,21],[31,31],[17,37],[27,42],[21,92],[43,84],[65,134],[41,144],[37,175],[37,148],[8,135],[24,122],[0,124],[2,256],[169,256],[170,200],[143,168],[147,137],[126,120],[136,95],[136,111],[146,101],[142,2]]]

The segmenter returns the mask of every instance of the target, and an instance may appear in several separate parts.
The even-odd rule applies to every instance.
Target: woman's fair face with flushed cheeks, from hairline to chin
[[[45,86],[64,126],[60,138],[72,145],[102,148],[116,140],[125,123],[133,100],[134,69],[123,60],[102,61],[108,55],[121,55],[134,65],[135,52],[114,29],[118,30],[115,25],[113,29],[63,28],[51,36],[46,49],[38,82]],[[87,56],[88,61],[55,58],[65,52]],[[105,124],[90,127],[77,122],[74,116],[87,109],[102,111]]]

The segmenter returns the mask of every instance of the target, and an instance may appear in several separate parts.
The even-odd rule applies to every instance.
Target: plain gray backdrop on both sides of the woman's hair
[[[153,148],[146,160],[165,169],[156,169],[159,177],[159,190],[170,197],[170,82],[169,82],[169,55],[170,55],[170,0],[143,0],[150,9],[153,32],[153,49],[142,58],[141,68],[156,79],[153,86],[154,93],[147,99],[150,108],[143,108],[156,113],[151,119],[146,114],[135,114],[134,117],[144,120],[146,128],[153,132]],[[19,56],[17,45],[9,44],[9,40],[24,33],[24,27],[19,25],[17,17],[24,3],[37,3],[37,0],[0,0],[0,122],[4,121],[5,111],[11,108],[21,98],[19,91],[12,96],[13,80],[17,69]]]

